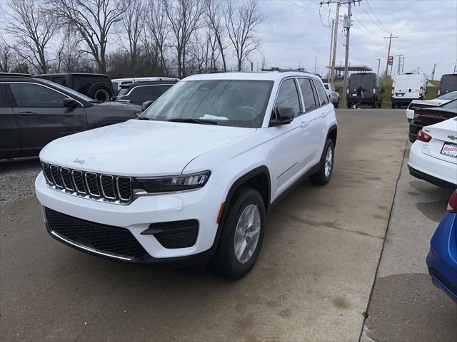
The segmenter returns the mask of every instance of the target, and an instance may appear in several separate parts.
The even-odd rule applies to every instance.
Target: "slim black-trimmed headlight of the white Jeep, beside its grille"
[[[190,175],[136,178],[132,187],[148,193],[178,192],[204,187],[211,171],[192,173]]]

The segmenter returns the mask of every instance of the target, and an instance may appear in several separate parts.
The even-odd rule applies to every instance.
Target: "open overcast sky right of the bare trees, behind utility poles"
[[[300,63],[308,71],[314,71],[317,57],[317,67],[325,75],[323,68],[328,65],[331,28],[323,25],[328,26],[328,9],[331,10],[330,19],[335,18],[336,4],[321,7],[318,0],[260,1],[268,18],[258,28],[258,35],[268,66],[297,68]],[[347,5],[342,5],[340,15],[346,14],[347,9]],[[457,0],[362,0],[361,6],[353,6],[352,13],[351,64],[363,64],[377,72],[377,58],[381,58],[382,73],[386,69],[388,50],[388,39],[383,37],[393,33],[398,36],[392,39],[393,73],[398,54],[405,56],[405,72],[419,67],[431,76],[433,63],[439,63],[435,79],[443,73],[453,72],[457,60]],[[342,26],[338,26],[336,65],[340,62],[344,65],[346,37]],[[262,57],[259,53],[251,60],[254,69],[257,63],[260,68]]]

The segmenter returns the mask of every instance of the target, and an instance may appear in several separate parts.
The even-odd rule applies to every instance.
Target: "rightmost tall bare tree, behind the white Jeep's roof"
[[[238,7],[232,0],[226,1],[226,29],[235,51],[238,71],[241,71],[246,58],[260,47],[256,27],[265,21],[266,15],[258,10],[258,0],[243,1]]]

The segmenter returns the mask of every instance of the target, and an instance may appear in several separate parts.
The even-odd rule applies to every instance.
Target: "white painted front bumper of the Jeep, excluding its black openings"
[[[165,195],[148,195],[136,198],[128,205],[120,205],[109,202],[93,201],[81,198],[65,192],[56,191],[46,185],[44,175],[40,172],[35,181],[36,197],[42,207],[49,208],[75,219],[81,219],[92,224],[111,226],[127,229],[141,247],[147,252],[146,257],[126,261],[136,262],[161,262],[174,261],[175,259],[189,259],[191,256],[201,256],[213,247],[218,224],[216,223],[221,202],[224,202],[224,190],[211,183],[199,189],[189,192],[171,193]],[[84,250],[101,257],[116,258],[106,255],[91,248],[91,244],[72,244],[69,241],[53,234],[49,222],[44,214],[46,227],[54,238],[76,249]],[[191,247],[166,248],[159,242],[154,234],[141,234],[151,224],[163,222],[178,222],[196,220],[199,231],[196,242]],[[109,253],[111,254],[111,253]]]

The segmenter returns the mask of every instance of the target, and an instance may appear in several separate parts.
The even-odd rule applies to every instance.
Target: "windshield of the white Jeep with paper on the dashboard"
[[[204,120],[218,125],[259,128],[273,81],[181,81],[141,117],[151,120]]]

